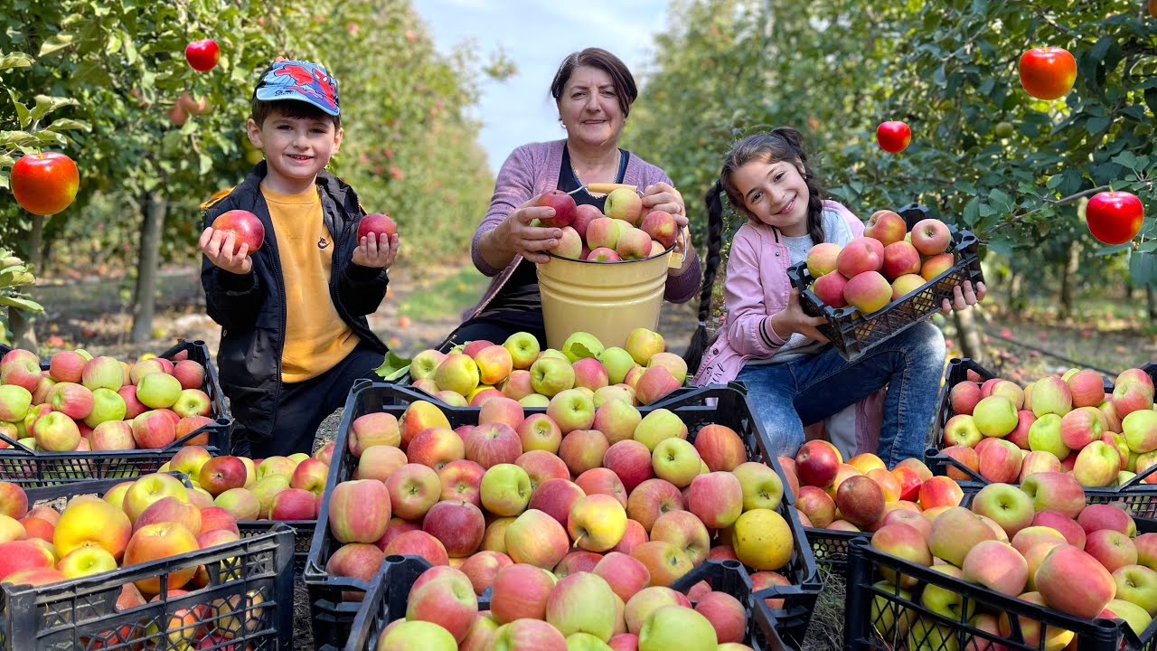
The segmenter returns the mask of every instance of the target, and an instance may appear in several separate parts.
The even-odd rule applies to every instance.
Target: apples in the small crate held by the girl
[[[876,211],[862,237],[843,247],[820,242],[808,251],[811,291],[828,307],[850,305],[871,314],[951,269],[951,243],[952,234],[937,219],[923,219],[908,233],[902,217]]]

